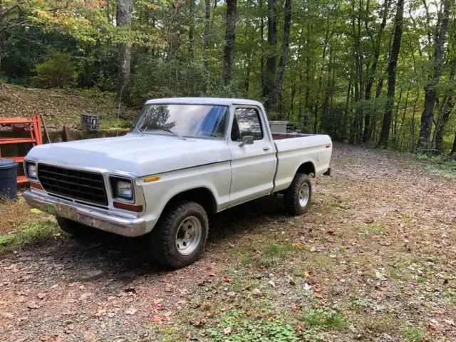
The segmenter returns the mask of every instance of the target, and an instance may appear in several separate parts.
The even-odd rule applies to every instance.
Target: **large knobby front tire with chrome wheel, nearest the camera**
[[[152,255],[166,269],[193,264],[204,249],[208,231],[207,213],[201,205],[191,201],[172,204],[150,233]]]

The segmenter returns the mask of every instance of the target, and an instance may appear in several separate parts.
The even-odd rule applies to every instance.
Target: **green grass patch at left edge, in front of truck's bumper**
[[[56,237],[58,232],[59,229],[55,220],[51,218],[32,219],[21,227],[21,232],[0,235],[0,253],[41,244]]]

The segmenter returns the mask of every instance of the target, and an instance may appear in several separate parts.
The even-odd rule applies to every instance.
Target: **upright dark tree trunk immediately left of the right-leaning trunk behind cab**
[[[264,104],[269,110],[269,100],[274,88],[276,73],[276,46],[277,46],[277,1],[268,0],[268,58],[266,60],[266,76],[264,77],[263,97],[267,98]]]

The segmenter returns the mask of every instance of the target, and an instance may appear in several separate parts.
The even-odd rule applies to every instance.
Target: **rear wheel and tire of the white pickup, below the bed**
[[[296,173],[288,189],[284,192],[284,205],[287,214],[299,216],[309,209],[312,198],[312,184],[309,175]]]

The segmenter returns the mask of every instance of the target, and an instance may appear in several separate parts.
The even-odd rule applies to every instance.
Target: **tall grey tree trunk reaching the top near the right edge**
[[[425,109],[421,115],[420,138],[418,140],[418,152],[427,150],[429,146],[430,132],[432,130],[432,118],[434,116],[434,105],[437,98],[437,86],[442,73],[443,46],[445,45],[448,17],[450,16],[449,0],[443,1],[442,24],[437,28],[434,46],[434,74],[432,80],[425,87]]]

